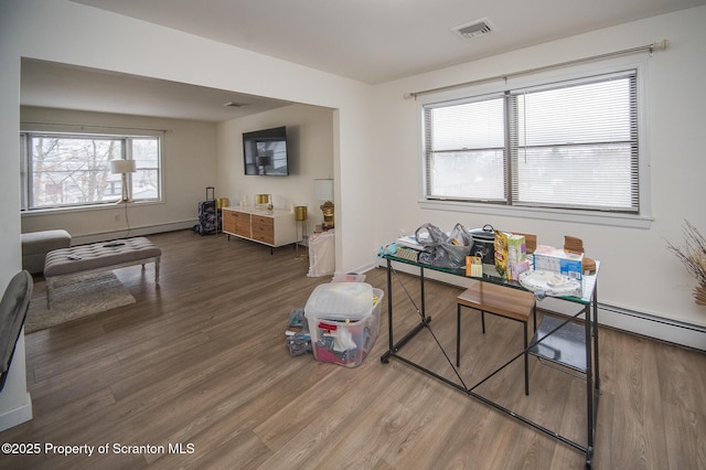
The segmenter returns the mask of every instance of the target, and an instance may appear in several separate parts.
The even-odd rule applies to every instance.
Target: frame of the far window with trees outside
[[[163,149],[164,149],[164,132],[157,130],[142,130],[142,129],[103,129],[103,128],[88,128],[81,126],[79,130],[74,129],[71,126],[58,125],[22,125],[20,130],[20,188],[21,188],[21,207],[20,212],[26,214],[41,214],[46,212],[56,211],[81,211],[86,209],[105,209],[110,207],[120,200],[121,192],[116,194],[116,199],[107,201],[92,201],[86,203],[72,203],[72,204],[58,204],[51,206],[30,207],[30,201],[32,197],[32,191],[30,184],[30,178],[32,178],[31,171],[31,158],[29,154],[29,146],[31,137],[54,136],[58,138],[79,138],[79,139],[110,139],[121,141],[121,159],[132,159],[132,145],[133,140],[139,139],[156,139],[158,146],[157,168],[153,167],[139,167],[140,170],[157,171],[157,195],[154,197],[135,197],[133,196],[133,178],[132,174],[128,174],[127,181],[130,185],[130,194],[132,202],[138,204],[161,203],[163,202]]]

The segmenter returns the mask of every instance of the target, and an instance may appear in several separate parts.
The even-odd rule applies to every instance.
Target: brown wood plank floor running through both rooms
[[[116,270],[135,305],[26,335],[34,419],[0,441],[36,442],[42,451],[0,455],[1,468],[584,467],[574,448],[399,361],[382,364],[386,299],[381,334],[359,367],[291,356],[290,311],[330,280],[307,277],[308,261],[291,247],[270,255],[255,243],[188,231],[150,239],[163,252],[159,288],[151,266]],[[386,291],[383,269],[366,275]],[[415,298],[415,279],[400,277]],[[460,291],[427,284],[434,332],[452,356]],[[403,289],[393,302],[402,332],[415,313]],[[463,317],[460,374],[469,385],[522,345],[520,323],[486,316],[482,335],[479,317]],[[593,468],[706,468],[706,355],[606,328],[599,339]],[[404,353],[456,380],[427,331]],[[530,364],[528,397],[522,361],[478,392],[585,441],[585,383],[534,357]],[[47,445],[87,445],[94,453],[62,456]]]

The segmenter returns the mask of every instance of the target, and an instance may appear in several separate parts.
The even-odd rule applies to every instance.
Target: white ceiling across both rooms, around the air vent
[[[298,63],[320,71],[378,84],[405,76],[464,63],[481,57],[566,38],[591,30],[607,28],[671,11],[706,4],[706,0],[72,0],[76,3],[113,11],[147,22],[208,38],[260,54]],[[466,40],[451,31],[477,19],[486,18],[495,31]],[[663,38],[654,38],[655,41]],[[23,104],[39,105],[39,83],[30,73],[44,73],[41,87],[52,86],[53,64],[23,63]],[[66,78],[74,73],[74,84],[79,76],[76,68],[62,68],[57,75]],[[26,75],[26,76],[25,76]],[[111,95],[120,98],[119,79],[145,81],[139,77],[92,76],[113,83]],[[58,81],[58,78],[57,78]],[[159,83],[142,82],[147,86]],[[67,83],[61,84],[67,93]],[[135,83],[128,83],[135,85]],[[218,90],[175,89],[169,96],[192,97],[204,102],[223,96]],[[96,84],[94,86],[98,87]],[[83,88],[77,86],[76,88]],[[132,88],[135,90],[136,88]],[[138,88],[139,89],[139,88]],[[175,95],[174,90],[180,94]],[[224,92],[221,92],[224,93]],[[41,100],[49,99],[45,94]],[[56,94],[53,94],[54,96]],[[105,95],[105,94],[104,94]],[[214,96],[215,95],[215,96]],[[94,96],[95,97],[95,96]],[[238,100],[233,97],[226,100]],[[68,99],[67,99],[68,102]],[[78,99],[84,102],[84,99]],[[141,111],[140,104],[169,109],[167,104],[145,103],[142,97],[117,99],[130,114],[152,115]],[[76,103],[76,102],[74,102]],[[131,103],[131,106],[128,106]],[[253,102],[255,103],[255,102]],[[265,103],[272,106],[274,103]],[[53,106],[42,103],[42,106]],[[192,109],[200,108],[189,103]],[[65,106],[58,106],[65,107]],[[213,107],[210,106],[213,110]],[[248,110],[249,108],[249,110]],[[240,108],[239,113],[256,110]],[[111,109],[115,111],[115,109]],[[118,110],[120,111],[120,110]],[[233,109],[226,109],[233,111]],[[183,111],[170,111],[173,117],[185,117]],[[206,115],[211,115],[205,110]],[[196,114],[193,118],[203,115]],[[235,116],[232,116],[235,117]],[[208,120],[223,120],[224,109]]]

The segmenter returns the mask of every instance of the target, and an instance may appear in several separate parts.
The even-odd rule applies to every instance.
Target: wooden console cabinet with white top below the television
[[[223,233],[271,247],[299,242],[295,214],[275,209],[223,207]]]

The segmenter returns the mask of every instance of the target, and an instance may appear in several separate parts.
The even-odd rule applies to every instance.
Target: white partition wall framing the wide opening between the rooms
[[[350,195],[370,185],[370,163],[365,158],[371,154],[367,138],[372,106],[370,85],[65,0],[1,1],[1,285],[7,285],[21,269],[18,178],[21,57],[335,109],[333,178],[336,201],[341,201],[341,194]],[[342,172],[345,172],[344,180]],[[371,193],[365,192],[336,203],[336,267],[342,270],[371,263],[366,235],[370,226],[355,223],[356,217],[367,213],[371,197]],[[341,233],[344,227],[349,232]],[[24,355],[23,351],[19,353]],[[0,416],[28,406],[31,406],[29,398],[21,391],[0,395]]]

